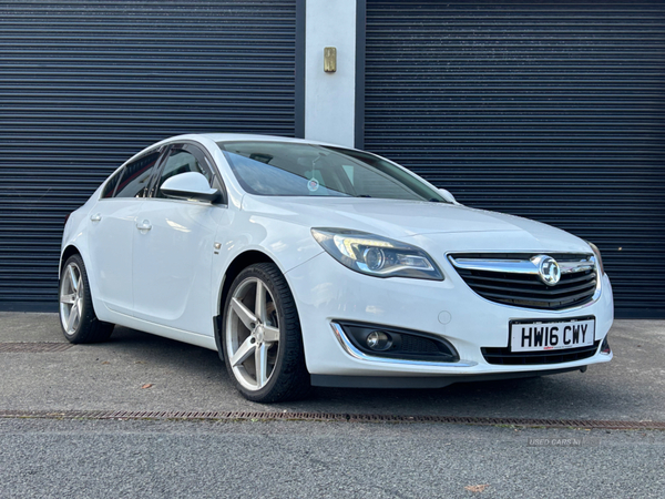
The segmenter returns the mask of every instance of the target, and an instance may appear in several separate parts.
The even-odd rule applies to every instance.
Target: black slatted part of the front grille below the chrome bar
[[[596,291],[596,273],[591,269],[562,273],[561,279],[554,286],[544,284],[534,273],[501,272],[498,269],[460,268],[457,258],[464,262],[529,262],[534,255],[453,255],[451,257],[456,271],[467,285],[477,294],[491,302],[513,305],[523,308],[559,310],[591,302]],[[560,263],[579,262],[590,266],[587,255],[551,254]]]

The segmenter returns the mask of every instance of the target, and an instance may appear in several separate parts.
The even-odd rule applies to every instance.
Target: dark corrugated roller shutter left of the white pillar
[[[57,304],[66,213],[142,147],[294,136],[296,0],[0,2],[0,308]]]

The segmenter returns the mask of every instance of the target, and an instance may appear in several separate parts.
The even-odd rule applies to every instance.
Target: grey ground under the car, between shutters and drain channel
[[[66,343],[55,314],[0,313],[0,345]],[[109,343],[0,352],[0,410],[308,411],[665,421],[665,320],[616,320],[614,359],[586,373],[441,389],[317,388],[306,400],[245,400],[217,354],[116,327]],[[150,385],[150,386],[149,386]],[[149,387],[146,387],[149,386]]]

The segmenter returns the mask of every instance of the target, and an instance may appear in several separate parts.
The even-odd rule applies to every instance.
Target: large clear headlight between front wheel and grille
[[[410,244],[345,228],[313,228],[314,238],[351,271],[376,277],[443,281],[432,258]]]

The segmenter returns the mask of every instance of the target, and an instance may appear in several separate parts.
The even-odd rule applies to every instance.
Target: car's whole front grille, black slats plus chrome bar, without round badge
[[[592,302],[600,292],[593,254],[548,253],[561,268],[556,285],[541,282],[534,253],[462,253],[448,259],[467,285],[483,298],[522,308],[562,310]]]

